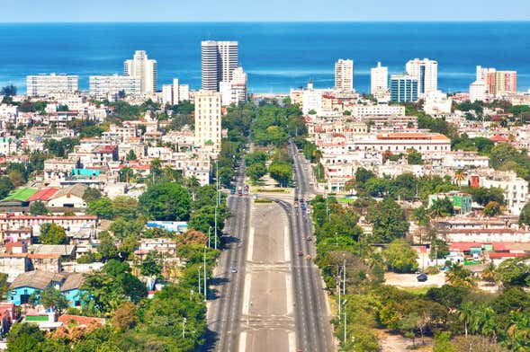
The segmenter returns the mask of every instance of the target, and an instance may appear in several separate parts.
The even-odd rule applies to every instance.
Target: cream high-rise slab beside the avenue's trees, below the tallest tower
[[[220,92],[201,90],[195,92],[194,144],[220,150]]]

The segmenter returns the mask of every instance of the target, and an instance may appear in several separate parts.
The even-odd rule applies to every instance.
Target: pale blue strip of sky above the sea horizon
[[[0,22],[530,21],[529,0],[2,0]]]

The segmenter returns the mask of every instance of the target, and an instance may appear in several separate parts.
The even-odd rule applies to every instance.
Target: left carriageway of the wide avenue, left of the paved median
[[[237,186],[244,186],[245,165],[238,169]],[[238,346],[242,310],[243,277],[246,272],[247,235],[250,198],[231,195],[228,199],[230,217],[225,224],[224,250],[210,281],[207,311],[208,329],[202,351],[234,351]],[[232,267],[238,273],[232,273]]]

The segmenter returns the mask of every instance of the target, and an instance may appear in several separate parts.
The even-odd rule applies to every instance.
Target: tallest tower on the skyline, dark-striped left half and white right
[[[238,67],[238,42],[205,40],[201,43],[202,89],[218,91],[220,82],[230,82]]]

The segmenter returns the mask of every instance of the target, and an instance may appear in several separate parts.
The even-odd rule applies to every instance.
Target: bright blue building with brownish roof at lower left
[[[16,277],[9,286],[7,302],[15,305],[27,304],[31,295],[40,297],[40,293],[48,287],[61,291],[71,307],[81,305],[81,290],[84,277],[78,273],[53,273],[50,271],[33,270]]]

